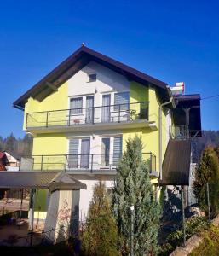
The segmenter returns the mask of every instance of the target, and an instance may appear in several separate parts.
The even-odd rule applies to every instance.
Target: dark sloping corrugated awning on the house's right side
[[[189,185],[191,141],[170,140],[163,161],[163,185]]]

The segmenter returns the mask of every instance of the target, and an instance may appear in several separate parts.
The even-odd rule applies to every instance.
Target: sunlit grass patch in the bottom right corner
[[[219,227],[211,225],[210,229],[205,230],[202,235],[204,236],[204,241],[189,256],[219,255]]]

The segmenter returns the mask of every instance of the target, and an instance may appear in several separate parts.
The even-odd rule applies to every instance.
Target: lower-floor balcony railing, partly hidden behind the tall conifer
[[[32,169],[35,171],[104,171],[115,170],[123,154],[54,154],[33,155]],[[142,159],[149,172],[156,172],[156,156],[143,153]]]

